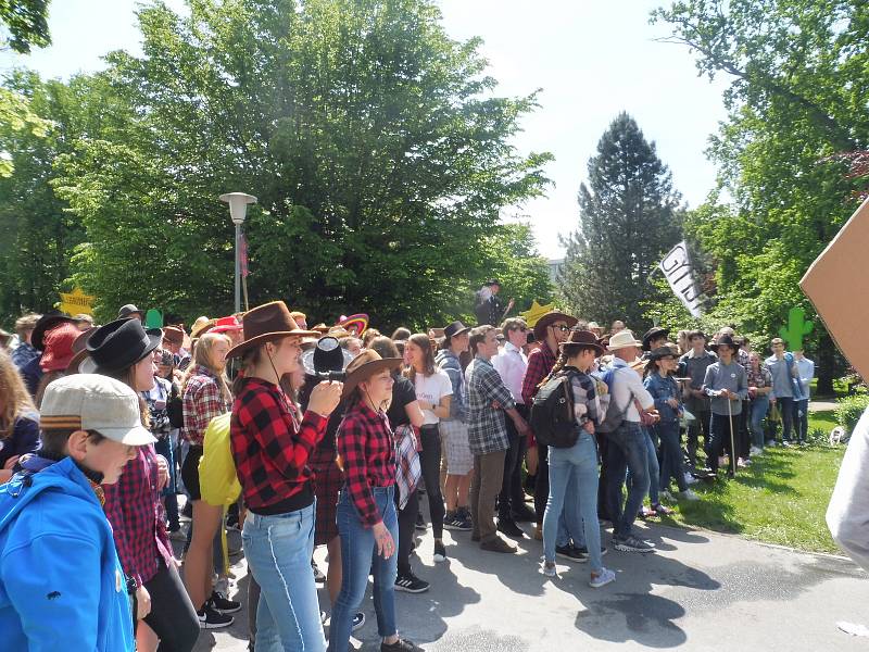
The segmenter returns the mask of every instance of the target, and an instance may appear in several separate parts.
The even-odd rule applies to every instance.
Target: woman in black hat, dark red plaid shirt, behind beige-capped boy
[[[88,338],[89,358],[79,369],[121,380],[136,392],[147,391],[154,384],[153,351],[162,339],[160,329],[146,331],[139,319],[111,322]],[[148,427],[141,397],[139,403]],[[136,587],[134,623],[138,618],[147,625],[137,629],[137,649],[189,652],[199,637],[199,622],[166,535],[160,494],[167,480],[168,465],[154,453],[154,446],[138,447],[121,479],[103,485],[104,510],[127,581]]]

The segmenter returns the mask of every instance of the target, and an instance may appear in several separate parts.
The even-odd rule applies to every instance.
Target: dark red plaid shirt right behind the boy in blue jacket
[[[127,462],[121,479],[103,485],[105,515],[112,524],[117,555],[127,577],[140,587],[158,572],[158,557],[173,564],[166,536],[166,517],[158,490],[156,454],[153,444],[140,446]]]

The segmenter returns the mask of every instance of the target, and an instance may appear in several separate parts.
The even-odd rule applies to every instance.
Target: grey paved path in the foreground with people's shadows
[[[436,566],[426,534],[415,565],[432,588],[396,593],[399,627],[436,652],[867,650],[867,639],[835,627],[869,623],[869,582],[851,562],[705,530],[652,525],[643,536],[659,552],[610,550],[604,563],[618,579],[594,590],[583,565],[559,563],[559,578],[543,577],[538,541],[521,541],[518,555],[499,555],[481,552],[469,534],[445,532],[451,559]],[[315,556],[325,568],[324,554]],[[243,561],[236,573],[243,575]],[[241,577],[242,593],[245,587]],[[370,597],[363,610],[368,622],[356,647],[379,650]],[[203,632],[197,650],[247,650],[244,612],[239,616],[227,630]]]

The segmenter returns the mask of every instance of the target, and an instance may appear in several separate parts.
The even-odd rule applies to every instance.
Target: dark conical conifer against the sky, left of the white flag
[[[579,189],[579,228],[567,247],[559,286],[577,315],[646,326],[641,301],[659,298],[650,274],[680,239],[679,193],[655,143],[620,113],[589,160]]]

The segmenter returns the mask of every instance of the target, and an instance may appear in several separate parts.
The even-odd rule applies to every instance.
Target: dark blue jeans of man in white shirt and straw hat
[[[640,429],[640,424],[622,422],[608,435],[606,448],[606,509],[613,521],[613,536],[632,535],[633,522],[648,491],[648,444],[651,441]],[[621,485],[625,472],[630,469],[632,482],[628,488],[625,510],[621,509]]]

